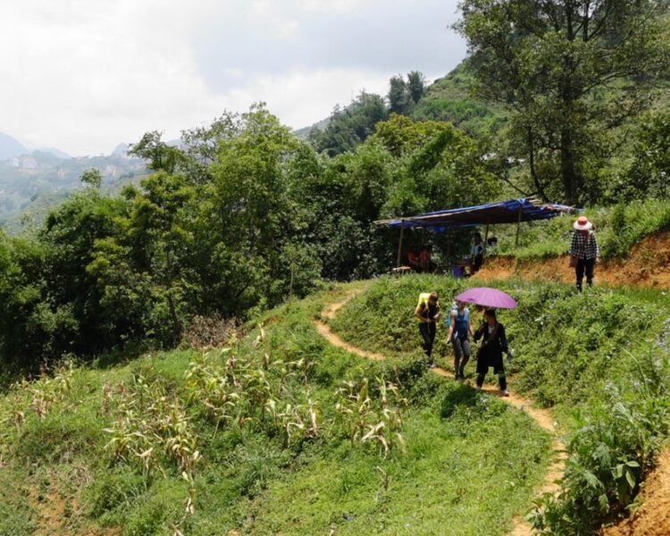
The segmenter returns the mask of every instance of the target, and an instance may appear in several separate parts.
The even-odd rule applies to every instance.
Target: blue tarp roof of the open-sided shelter
[[[443,232],[449,229],[463,229],[477,225],[549,220],[549,218],[567,214],[573,210],[572,206],[554,203],[541,204],[536,199],[524,197],[522,199],[487,203],[486,205],[451,208],[418,216],[381,220],[375,223],[388,227],[422,227]]]

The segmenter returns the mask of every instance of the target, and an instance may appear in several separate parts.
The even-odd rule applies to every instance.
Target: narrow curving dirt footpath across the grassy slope
[[[337,303],[330,304],[326,306],[321,313],[322,318],[332,320],[337,315],[339,309],[346,306],[348,302],[356,297],[358,294],[363,292],[363,290],[356,290],[349,292],[347,297],[342,299]],[[347,341],[341,339],[337,333],[331,330],[331,326],[327,322],[322,320],[314,320],[314,326],[321,336],[326,339],[332,346],[337,348],[343,348],[355,354],[356,356],[365,357],[366,359],[373,359],[375,361],[383,361],[386,359],[386,356],[376,352],[370,352],[364,350],[363,348],[357,348]],[[435,367],[430,369],[432,373],[438,374],[445,378],[452,378],[453,373],[450,373],[447,369],[441,367]],[[498,396],[498,391],[490,388],[484,388],[486,392],[493,396]],[[560,440],[557,434],[557,425],[554,420],[553,415],[547,409],[540,409],[532,405],[532,401],[528,398],[523,398],[515,393],[510,393],[509,397],[500,397],[501,400],[507,402],[510,406],[514,406],[521,411],[524,411],[526,414],[530,415],[532,420],[537,423],[540,428],[553,436],[552,448],[554,450],[554,459],[549,465],[549,470],[545,475],[544,480],[540,486],[535,490],[536,495],[540,496],[545,493],[557,493],[558,485],[557,480],[563,476],[565,471],[565,445]],[[511,532],[508,532],[508,536],[532,536],[532,526],[528,523],[523,516],[517,515],[513,519],[514,527]]]

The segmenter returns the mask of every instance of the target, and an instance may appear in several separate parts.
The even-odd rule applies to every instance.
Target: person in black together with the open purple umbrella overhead
[[[505,326],[498,322],[496,308],[514,309],[517,306],[515,299],[498,289],[478,287],[459,294],[456,300],[487,307],[482,327],[474,332],[475,342],[482,339],[482,346],[475,357],[477,359],[477,389],[482,389],[486,374],[489,373],[489,368],[492,366],[494,373],[498,374],[500,394],[508,397],[507,376],[502,355],[507,353],[507,357],[511,358],[511,352],[507,348]]]

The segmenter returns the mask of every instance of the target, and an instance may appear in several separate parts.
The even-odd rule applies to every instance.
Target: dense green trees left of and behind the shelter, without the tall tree
[[[194,314],[249,317],[322,279],[382,272],[396,237],[373,221],[479,203],[499,185],[447,122],[393,115],[330,158],[264,105],[132,147],[154,171],[121,197],[96,172],[34,236],[0,238],[5,362],[94,356],[132,340],[172,345]]]

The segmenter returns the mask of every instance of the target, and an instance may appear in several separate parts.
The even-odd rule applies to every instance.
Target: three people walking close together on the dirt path
[[[473,322],[470,309],[464,302],[457,301],[448,312],[445,325],[448,326],[447,340],[454,348],[454,375],[456,381],[465,381],[465,366],[472,356],[470,348],[470,337],[474,342],[482,339],[477,349],[475,359],[477,361],[476,389],[482,389],[486,374],[490,367],[498,374],[500,394],[509,396],[507,391],[507,376],[503,364],[503,354],[511,359],[512,353],[507,347],[507,336],[505,326],[498,322],[495,309],[478,306],[483,311],[483,322],[480,327],[473,331]],[[441,310],[437,292],[423,292],[419,295],[419,303],[415,308],[415,317],[419,322],[419,331],[423,339],[423,351],[426,354],[427,366],[433,368],[435,362],[432,357],[432,348],[437,334],[437,324],[440,320]]]

